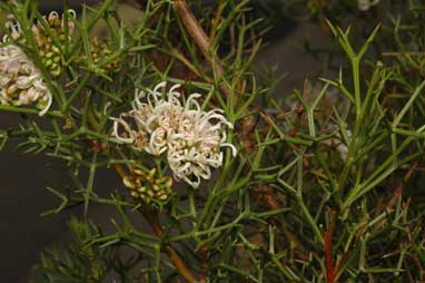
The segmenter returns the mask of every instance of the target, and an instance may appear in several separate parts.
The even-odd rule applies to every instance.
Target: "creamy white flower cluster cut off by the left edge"
[[[19,23],[7,22],[11,37],[18,39],[21,36]],[[27,57],[23,50],[13,43],[9,43],[9,37],[4,36],[0,48],[0,103],[2,105],[31,105],[37,104],[39,115],[45,115],[51,106],[52,95],[46,86],[39,69]]]

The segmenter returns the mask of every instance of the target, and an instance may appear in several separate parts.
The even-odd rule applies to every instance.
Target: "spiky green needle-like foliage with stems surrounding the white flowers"
[[[60,35],[42,26],[58,50],[60,72],[47,66],[31,33],[36,20],[46,21],[37,1],[0,3],[22,28],[12,42],[31,58],[53,96],[42,118],[31,106],[1,105],[22,123],[0,131],[0,146],[23,137],[19,150],[63,160],[72,183],[48,188],[61,204],[46,214],[75,206],[85,214],[70,222],[72,244],[43,253],[37,280],[423,281],[419,3],[412,2],[408,25],[393,17],[394,26],[369,26],[359,46],[350,28],[327,22],[348,68],[333,79],[307,81],[288,98],[273,94],[270,77],[256,72],[261,26],[249,13],[249,1],[207,8],[194,1],[191,17],[181,12],[181,1],[146,2],[136,27],[122,23],[112,0],[85,6],[81,19],[65,12]],[[67,1],[63,6],[68,11]],[[99,22],[108,27],[107,39],[91,33]],[[1,23],[10,32],[4,19]],[[394,51],[370,52],[379,36]],[[131,108],[135,89],[164,80],[182,84],[182,92],[200,92],[202,109],[219,107],[235,125],[226,142],[237,146],[237,156],[226,149],[223,167],[198,189],[171,185],[164,155],[152,158],[111,135],[110,117]],[[121,187],[108,188],[109,196],[98,194],[101,168],[123,179]],[[149,198],[158,184],[167,202]],[[135,191],[140,187],[151,188],[152,196]],[[110,225],[89,221],[92,204],[116,212]]]

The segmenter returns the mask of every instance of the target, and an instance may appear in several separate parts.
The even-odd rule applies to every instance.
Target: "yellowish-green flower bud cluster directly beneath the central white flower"
[[[160,175],[156,168],[149,172],[132,169],[132,175],[122,179],[132,197],[141,198],[145,203],[165,204],[172,195],[172,178]]]

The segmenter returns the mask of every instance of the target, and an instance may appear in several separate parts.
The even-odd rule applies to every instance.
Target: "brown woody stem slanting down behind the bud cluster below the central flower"
[[[121,178],[125,178],[128,176],[127,172],[122,168],[121,165],[113,164],[113,168]],[[149,225],[152,227],[155,235],[158,237],[162,237],[164,230],[159,222],[158,215],[155,214],[152,211],[150,211],[147,206],[141,206],[139,211],[145,216]],[[180,258],[176,250],[172,247],[172,245],[168,244],[166,247],[167,247],[168,256],[170,257],[174,266],[178,270],[181,276],[184,276],[189,283],[198,282],[197,279],[190,273],[190,271],[188,270],[184,261]]]

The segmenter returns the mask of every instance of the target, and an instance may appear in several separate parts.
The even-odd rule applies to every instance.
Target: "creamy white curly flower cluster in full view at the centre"
[[[211,167],[223,165],[220,147],[228,146],[236,155],[235,146],[225,143],[224,126],[231,129],[233,125],[223,116],[221,109],[201,110],[196,100],[200,97],[198,94],[190,95],[181,105],[177,91],[180,85],[171,87],[162,98],[159,90],[165,87],[166,82],[161,82],[147,95],[136,90],[132,110],[112,118],[112,135],[137,150],[156,156],[166,154],[174,177],[198,187],[200,178],[210,178]],[[146,103],[141,103],[141,98],[146,98]],[[130,126],[128,118],[134,120],[136,128]],[[123,129],[121,134],[120,128]]]

